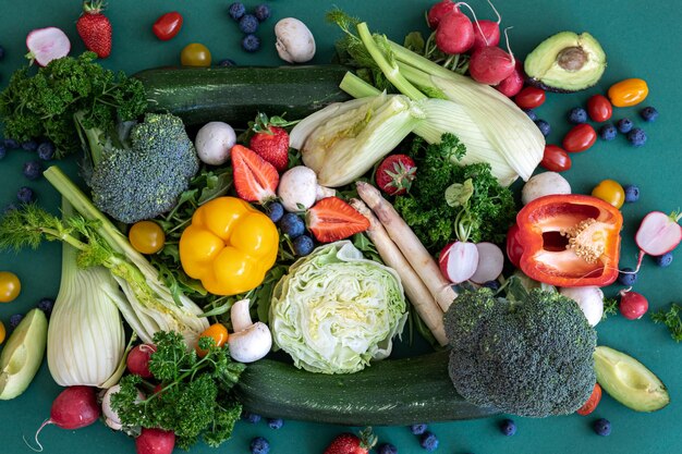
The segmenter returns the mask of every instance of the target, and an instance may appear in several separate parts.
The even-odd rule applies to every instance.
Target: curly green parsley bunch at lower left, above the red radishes
[[[172,430],[175,443],[184,450],[199,437],[214,447],[230,439],[242,412],[230,390],[244,365],[232,363],[228,347],[217,347],[210,338],[199,340],[199,347],[208,351],[203,358],[187,351],[175,332],[159,331],[154,342],[157,351],[151,355],[149,371],[161,381],[161,389],[137,402],[138,391],[146,383],[139,376],[123,377],[121,391],[111,397],[121,422]]]

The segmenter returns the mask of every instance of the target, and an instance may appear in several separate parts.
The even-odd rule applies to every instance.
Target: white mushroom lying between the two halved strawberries
[[[277,195],[287,211],[304,211],[316,200],[331,197],[334,189],[317,184],[315,171],[305,165],[296,165],[284,172],[277,187]]]

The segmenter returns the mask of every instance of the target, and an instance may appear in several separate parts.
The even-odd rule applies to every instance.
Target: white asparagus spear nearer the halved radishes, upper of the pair
[[[410,225],[398,214],[395,208],[381,196],[379,189],[365,182],[356,182],[355,184],[360,197],[374,211],[391,240],[393,240],[412,266],[412,269],[416,271],[422,282],[434,296],[436,303],[438,303],[443,312],[447,312],[458,294],[440,272],[434,257],[426,250],[426,247],[410,229]]]

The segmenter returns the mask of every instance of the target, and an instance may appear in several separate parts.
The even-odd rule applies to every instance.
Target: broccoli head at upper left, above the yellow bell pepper
[[[102,150],[89,177],[93,201],[121,222],[155,218],[175,206],[198,168],[182,120],[147,113],[131,130],[130,148]]]

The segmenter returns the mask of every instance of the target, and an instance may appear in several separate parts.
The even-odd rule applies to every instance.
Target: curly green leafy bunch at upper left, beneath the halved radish
[[[114,130],[119,120],[134,120],[147,106],[142,82],[95,63],[97,54],[51,61],[32,75],[16,71],[0,94],[4,134],[16,140],[47,137],[62,157],[81,147],[74,123],[80,113],[86,128]]]

